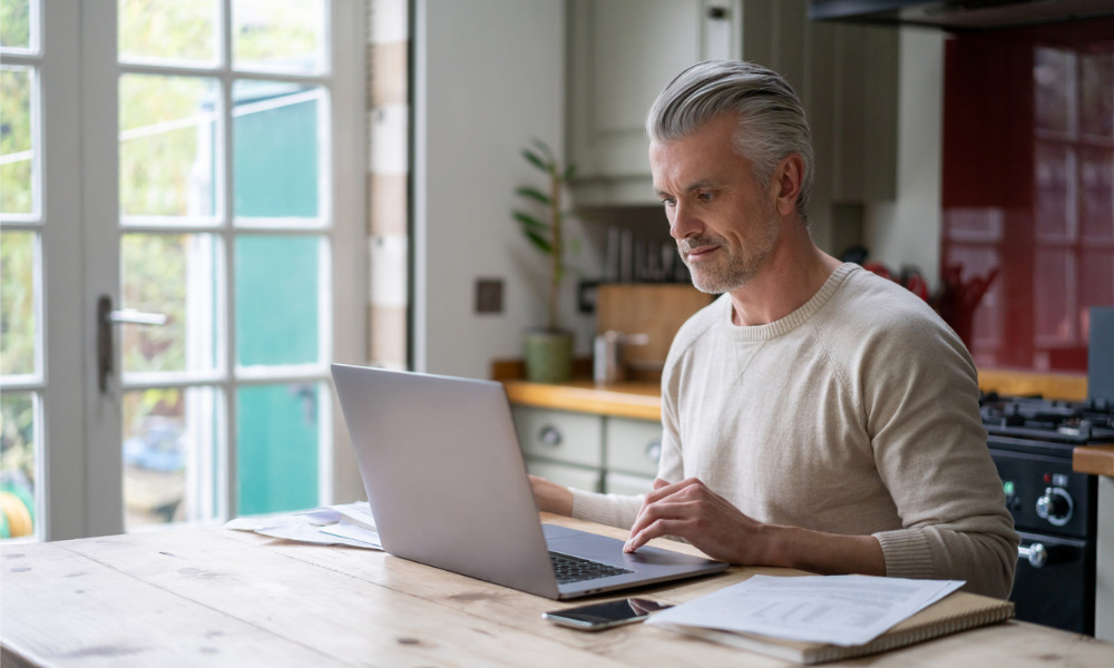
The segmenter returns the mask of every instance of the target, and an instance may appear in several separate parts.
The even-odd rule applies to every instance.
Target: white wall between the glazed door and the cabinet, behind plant
[[[534,137],[558,155],[565,145],[565,2],[419,0],[416,20],[414,366],[487,377],[492,358],[521,357],[525,328],[545,324],[548,258],[510,212],[515,187],[541,185],[520,150]],[[504,279],[504,313],[473,313],[479,277]],[[592,322],[574,315],[574,283],[566,320],[587,353]]]

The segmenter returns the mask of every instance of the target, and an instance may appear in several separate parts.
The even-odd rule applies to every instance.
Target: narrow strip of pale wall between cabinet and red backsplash
[[[931,289],[940,269],[944,40],[927,28],[901,28],[898,191],[867,206],[863,242],[871,259],[920,269]]]

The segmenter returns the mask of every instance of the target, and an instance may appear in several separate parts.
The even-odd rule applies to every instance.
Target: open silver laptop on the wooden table
[[[500,383],[342,364],[332,373],[391,554],[551,599],[727,568],[651,547],[627,554],[620,540],[543,524]]]

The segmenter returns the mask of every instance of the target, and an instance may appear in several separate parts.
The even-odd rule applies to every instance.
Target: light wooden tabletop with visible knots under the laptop
[[[0,563],[4,668],[791,665],[643,625],[565,629],[540,615],[573,603],[383,552],[221,528],[4,544]],[[756,572],[786,571],[733,568],[642,593],[682,602]],[[1114,666],[1114,645],[1012,621],[840,665]]]

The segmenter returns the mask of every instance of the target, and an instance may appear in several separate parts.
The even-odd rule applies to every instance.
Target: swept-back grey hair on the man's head
[[[754,164],[763,188],[790,154],[804,160],[797,210],[807,218],[815,156],[804,107],[778,72],[740,60],[705,60],[677,75],[657,96],[646,117],[646,134],[666,144],[698,130],[721,114],[735,114],[735,153]]]

